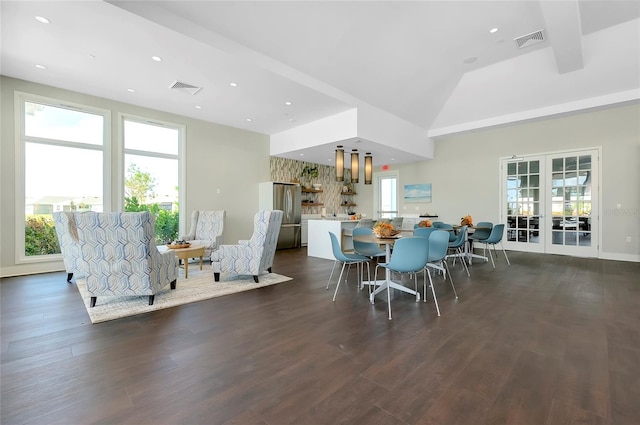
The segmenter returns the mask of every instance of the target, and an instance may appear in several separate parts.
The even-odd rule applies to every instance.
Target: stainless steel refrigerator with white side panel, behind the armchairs
[[[259,188],[261,210],[281,210],[282,226],[277,249],[298,248],[302,231],[302,192],[297,183],[263,182]]]

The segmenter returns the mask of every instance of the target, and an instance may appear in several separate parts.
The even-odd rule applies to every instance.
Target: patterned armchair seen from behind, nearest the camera
[[[148,212],[75,214],[79,269],[86,271],[87,290],[94,307],[98,296],[155,294],[167,285],[175,289],[178,259],[160,253],[154,219]]]

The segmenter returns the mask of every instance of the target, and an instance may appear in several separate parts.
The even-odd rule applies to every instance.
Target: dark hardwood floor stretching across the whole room
[[[392,321],[355,273],[331,302],[305,249],[276,255],[290,282],[95,325],[65,273],[6,278],[1,422],[640,423],[640,264],[510,260]]]

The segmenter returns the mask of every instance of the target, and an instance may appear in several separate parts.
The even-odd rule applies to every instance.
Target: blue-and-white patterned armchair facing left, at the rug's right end
[[[258,282],[262,271],[271,273],[276,254],[282,211],[258,211],[253,218],[253,236],[250,240],[238,241],[238,245],[221,245],[211,254],[211,268],[216,282],[220,273],[252,275]]]

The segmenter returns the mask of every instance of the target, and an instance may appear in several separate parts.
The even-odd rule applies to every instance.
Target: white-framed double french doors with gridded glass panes
[[[507,249],[598,256],[597,149],[503,159]]]

